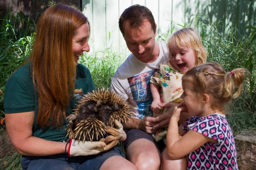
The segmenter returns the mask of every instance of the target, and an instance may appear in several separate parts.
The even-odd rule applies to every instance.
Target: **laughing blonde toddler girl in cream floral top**
[[[167,46],[171,60],[160,64],[158,71],[150,79],[153,117],[162,114],[159,103],[173,102],[173,106],[182,106],[176,103],[182,103],[180,96],[183,92],[181,86],[183,74],[207,59],[207,52],[201,38],[193,28],[182,28],[174,32]],[[166,128],[159,129],[156,134],[153,134],[156,141],[164,139],[165,136]]]

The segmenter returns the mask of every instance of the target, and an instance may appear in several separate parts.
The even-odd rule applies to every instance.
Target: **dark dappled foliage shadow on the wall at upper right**
[[[187,23],[214,23],[218,22],[219,32],[225,35],[227,29],[236,27],[240,34],[235,36],[249,36],[252,29],[246,29],[247,26],[256,25],[256,2],[255,0],[199,0],[197,1],[197,18],[191,15],[192,9],[188,2],[185,3],[184,20]],[[186,4],[187,3],[187,4]],[[178,4],[178,6],[181,5]]]

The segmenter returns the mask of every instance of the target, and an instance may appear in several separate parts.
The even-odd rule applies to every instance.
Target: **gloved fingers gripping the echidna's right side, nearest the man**
[[[122,124],[119,121],[115,120],[115,127],[116,128],[112,128],[110,126],[106,127],[106,131],[111,134],[106,137],[106,143],[112,140],[118,140],[119,142],[126,140],[126,133],[123,130]]]

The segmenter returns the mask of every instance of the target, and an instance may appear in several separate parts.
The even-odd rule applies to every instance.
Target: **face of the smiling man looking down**
[[[153,56],[152,54],[153,51],[156,50],[156,33],[154,33],[150,22],[147,19],[144,19],[139,28],[132,28],[130,27],[129,21],[125,21],[123,27],[127,47],[134,56],[145,63],[155,61],[158,55]]]

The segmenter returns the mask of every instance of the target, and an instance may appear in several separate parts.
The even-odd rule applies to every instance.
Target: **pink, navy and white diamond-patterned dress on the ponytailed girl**
[[[235,141],[226,116],[220,113],[193,116],[183,124],[183,130],[194,130],[218,143],[205,143],[189,154],[188,170],[238,169]]]

